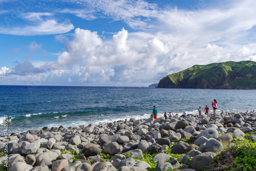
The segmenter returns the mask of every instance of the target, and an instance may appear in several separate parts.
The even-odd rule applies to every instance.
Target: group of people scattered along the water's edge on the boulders
[[[214,109],[214,116],[216,116],[216,110],[218,109],[218,107],[217,107],[217,100],[216,100],[216,99],[214,99],[214,101],[211,101],[211,106],[212,106],[212,108]],[[199,112],[199,117],[202,116],[202,108],[201,108],[201,106],[199,107],[198,112]],[[155,118],[155,119],[157,119],[157,114],[158,114],[158,111],[157,111],[156,106],[154,105],[154,106],[153,106],[152,115],[154,115],[154,118]],[[208,108],[207,105],[206,105],[205,108],[204,108],[204,114],[207,115],[207,116],[209,116],[209,108]],[[181,115],[181,117],[184,118],[186,115],[187,115],[186,112],[183,111],[183,114]],[[163,116],[165,117],[165,119],[167,119],[168,116],[169,116],[169,118],[173,118],[173,117],[174,117],[174,114],[172,114],[171,112],[169,112],[169,114],[167,115],[167,113],[164,112],[164,115],[163,115]]]

